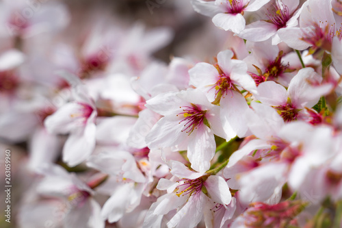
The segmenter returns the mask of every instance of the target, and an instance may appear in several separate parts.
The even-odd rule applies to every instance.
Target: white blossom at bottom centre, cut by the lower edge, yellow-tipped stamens
[[[174,209],[177,209],[177,212],[168,221],[168,227],[196,227],[202,219],[202,214],[209,213],[209,208],[207,212],[198,210],[203,207],[205,209],[208,197],[224,207],[231,203],[231,192],[222,177],[196,173],[181,162],[174,161],[171,164],[171,173],[176,182],[168,179],[159,180],[157,188],[168,193],[151,205],[143,227],[160,226],[163,215]],[[189,219],[187,214],[192,214],[192,219]]]

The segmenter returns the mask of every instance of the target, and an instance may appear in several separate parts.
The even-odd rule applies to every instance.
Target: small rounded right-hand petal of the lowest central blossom
[[[209,197],[214,202],[222,205],[228,205],[231,203],[231,191],[222,177],[211,175],[204,184],[205,188],[208,190]]]

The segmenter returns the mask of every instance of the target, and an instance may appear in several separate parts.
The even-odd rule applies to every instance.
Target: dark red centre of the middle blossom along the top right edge
[[[268,9],[267,11],[269,12]],[[271,12],[267,14],[269,21],[276,25],[278,29],[286,27],[286,23],[287,21],[289,21],[290,18],[289,8],[287,7],[287,5],[284,5],[282,1],[276,1],[276,5],[274,5],[274,11],[275,14],[272,14]]]

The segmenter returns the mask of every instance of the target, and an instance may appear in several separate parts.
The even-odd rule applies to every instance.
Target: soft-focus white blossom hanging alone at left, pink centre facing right
[[[70,133],[63,148],[63,160],[70,166],[80,164],[92,153],[95,147],[94,101],[86,94],[86,88],[75,88],[75,101],[66,103],[45,121],[50,133]]]

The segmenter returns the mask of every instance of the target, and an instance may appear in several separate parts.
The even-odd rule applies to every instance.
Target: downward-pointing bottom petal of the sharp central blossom
[[[206,125],[198,127],[196,135],[189,140],[187,146],[187,157],[192,164],[191,167],[200,173],[205,173],[211,166],[215,149],[213,131]]]

